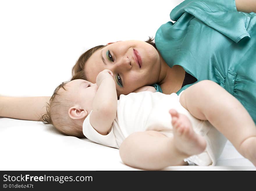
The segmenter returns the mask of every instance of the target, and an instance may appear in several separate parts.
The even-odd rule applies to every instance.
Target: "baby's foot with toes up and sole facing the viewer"
[[[206,141],[201,135],[195,133],[189,118],[177,113],[174,109],[169,113],[172,116],[175,147],[189,156],[202,153],[205,150]]]

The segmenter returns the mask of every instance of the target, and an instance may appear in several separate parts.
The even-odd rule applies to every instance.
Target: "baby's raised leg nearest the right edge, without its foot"
[[[198,82],[181,94],[180,103],[194,117],[208,120],[237,151],[253,161],[247,147],[255,147],[248,142],[255,142],[256,126],[243,105],[224,88],[209,80]]]

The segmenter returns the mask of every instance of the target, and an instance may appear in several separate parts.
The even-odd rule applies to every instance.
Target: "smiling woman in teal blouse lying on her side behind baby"
[[[256,14],[237,10],[256,12],[255,3],[186,0],[170,14],[177,22],[158,29],[157,49],[150,40],[94,47],[81,55],[72,79],[95,83],[97,74],[109,69],[118,95],[152,84],[165,94],[179,94],[193,83],[209,79],[234,95],[256,122]],[[0,115],[38,120],[49,99],[2,97]]]

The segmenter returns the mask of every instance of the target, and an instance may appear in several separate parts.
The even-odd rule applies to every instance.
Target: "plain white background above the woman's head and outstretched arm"
[[[154,37],[180,2],[0,1],[0,95],[51,96],[84,51]]]

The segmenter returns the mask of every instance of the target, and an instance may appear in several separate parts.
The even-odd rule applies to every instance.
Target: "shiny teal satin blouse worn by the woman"
[[[163,24],[155,36],[166,63],[182,66],[198,81],[218,83],[256,123],[256,13],[238,12],[235,0],[186,0],[170,18],[176,22]]]

